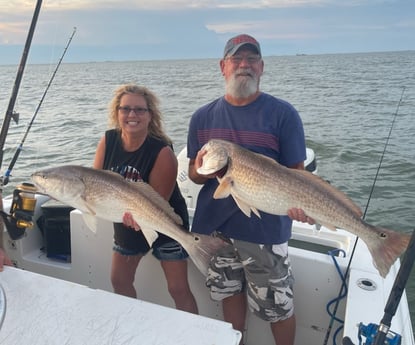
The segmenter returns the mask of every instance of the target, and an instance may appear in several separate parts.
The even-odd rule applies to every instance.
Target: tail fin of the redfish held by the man
[[[377,233],[376,241],[368,241],[368,248],[373,258],[373,264],[380,275],[385,278],[390,267],[408,248],[410,235],[381,227],[373,226]]]

